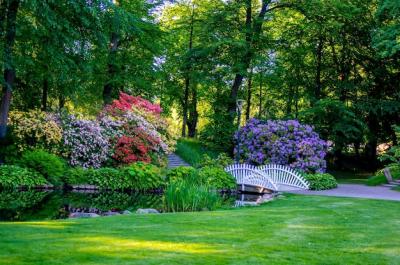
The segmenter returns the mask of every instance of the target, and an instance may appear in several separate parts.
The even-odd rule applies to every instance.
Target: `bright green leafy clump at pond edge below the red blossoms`
[[[129,186],[135,190],[154,190],[164,185],[160,169],[151,164],[138,162],[124,168],[123,172]]]

